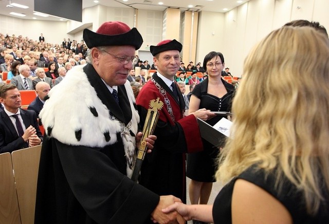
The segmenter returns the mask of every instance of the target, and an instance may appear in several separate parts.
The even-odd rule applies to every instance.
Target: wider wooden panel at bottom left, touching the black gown
[[[34,223],[41,147],[34,146],[11,153],[22,224]]]

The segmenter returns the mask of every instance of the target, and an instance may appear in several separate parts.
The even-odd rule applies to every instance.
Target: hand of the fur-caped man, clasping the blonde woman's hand
[[[181,202],[181,200],[173,195],[160,196],[160,201],[157,207],[151,214],[152,220],[154,223],[185,223],[184,218],[182,218],[176,211],[168,212],[167,214],[163,213],[161,210],[173,205],[175,202]]]

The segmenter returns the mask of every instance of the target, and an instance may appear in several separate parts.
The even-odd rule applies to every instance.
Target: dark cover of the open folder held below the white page
[[[220,131],[202,119],[197,118],[197,123],[199,125],[200,134],[203,139],[210,142],[215,147],[224,147],[227,136],[222,134]]]

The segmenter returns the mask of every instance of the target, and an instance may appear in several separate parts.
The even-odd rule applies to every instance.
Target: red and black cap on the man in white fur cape
[[[84,29],[83,40],[87,47],[100,46],[134,46],[139,49],[143,43],[143,38],[136,28],[130,29],[122,22],[105,22],[95,32]]]

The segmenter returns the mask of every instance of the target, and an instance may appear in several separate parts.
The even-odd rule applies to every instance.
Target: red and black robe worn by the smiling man
[[[154,131],[157,140],[152,153],[147,154],[143,161],[139,183],[154,193],[174,195],[186,202],[185,153],[203,150],[197,120],[194,115],[184,117],[185,102],[181,94],[178,94],[178,102],[156,73],[152,78],[166,91],[174,120],[168,111],[165,97],[150,80],[136,100],[141,125],[144,124],[150,100],[159,97],[163,107]],[[177,89],[179,91],[178,86]]]

